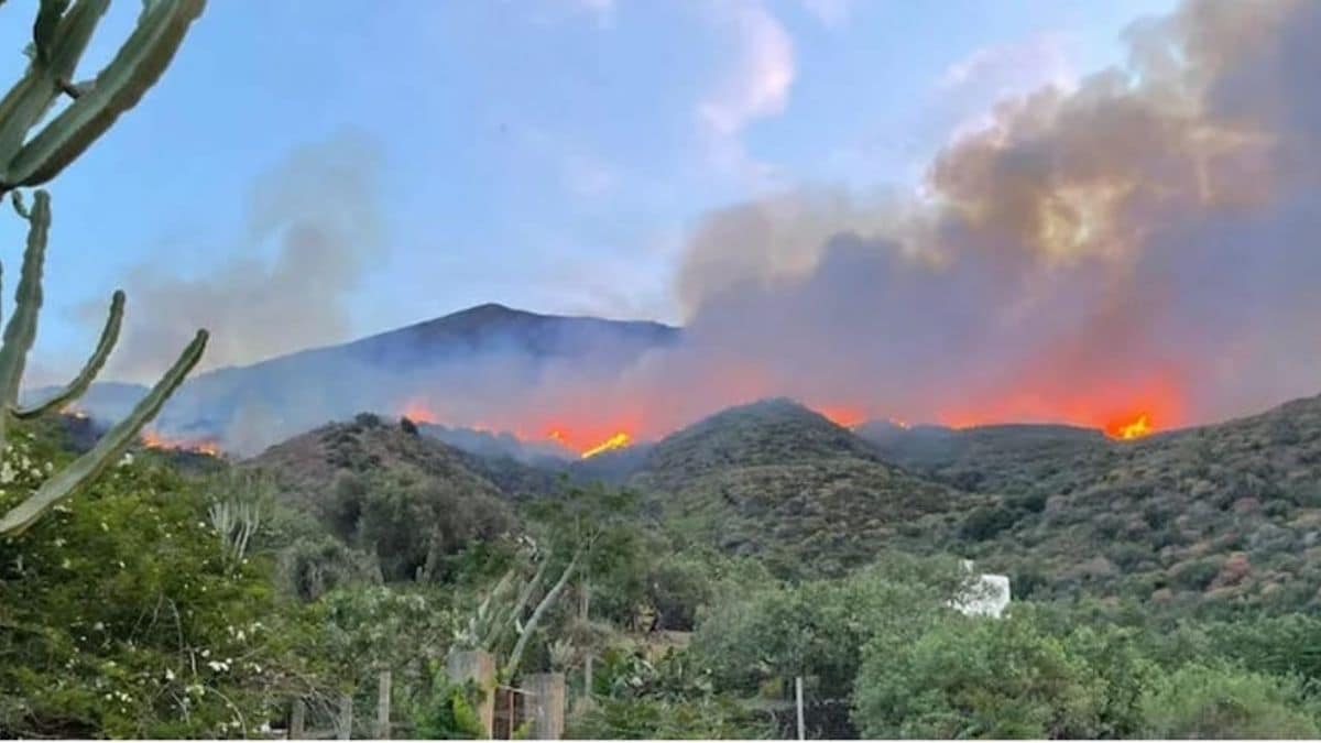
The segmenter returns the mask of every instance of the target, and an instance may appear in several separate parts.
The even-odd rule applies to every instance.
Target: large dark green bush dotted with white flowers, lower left
[[[0,505],[67,457],[12,443]],[[153,457],[125,459],[0,539],[0,734],[251,735],[306,689],[293,646],[312,628],[272,591],[268,559],[227,559],[207,505]]]

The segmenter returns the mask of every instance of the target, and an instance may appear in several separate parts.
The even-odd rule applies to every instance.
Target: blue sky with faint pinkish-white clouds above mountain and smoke
[[[9,79],[25,5],[0,9]],[[132,24],[137,3],[116,5],[85,74]],[[672,275],[704,213],[801,184],[910,188],[997,98],[1122,62],[1124,26],[1170,5],[211,0],[49,186],[37,370],[82,356],[83,308],[135,268],[221,270],[262,173],[345,132],[379,153],[384,247],[345,290],[343,338],[482,301],[680,321]],[[17,219],[0,239],[12,275]],[[149,312],[129,296],[129,323]]]

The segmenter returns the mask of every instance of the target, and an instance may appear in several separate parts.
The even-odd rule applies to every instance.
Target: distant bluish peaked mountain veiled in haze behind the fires
[[[659,323],[482,304],[342,345],[199,374],[180,387],[157,427],[172,438],[215,440],[227,451],[252,455],[362,410],[399,412],[416,394],[466,399],[480,389],[499,398],[555,364],[609,374],[678,337],[679,329]],[[81,405],[98,419],[114,420],[144,391],[136,385],[94,385]]]

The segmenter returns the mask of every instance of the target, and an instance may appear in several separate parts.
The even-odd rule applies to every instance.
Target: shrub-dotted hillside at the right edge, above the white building
[[[995,487],[960,535],[1020,595],[1321,608],[1321,397],[1140,442],[967,438],[927,471]]]

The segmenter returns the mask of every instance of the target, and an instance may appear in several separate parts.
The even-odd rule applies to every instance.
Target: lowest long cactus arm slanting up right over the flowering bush
[[[188,373],[202,358],[202,352],[206,349],[206,331],[198,331],[193,342],[188,344],[188,348],[184,349],[184,353],[174,361],[169,372],[161,377],[160,382],[156,382],[156,386],[152,387],[152,391],[147,393],[147,397],[137,402],[137,406],[133,407],[133,411],[127,418],[107,431],[91,451],[75,459],[67,468],[54,473],[28,500],[4,514],[0,518],[0,534],[21,534],[49,508],[78,492],[107,467],[118,461],[124,450],[137,439],[137,434],[143,427],[156,418],[156,414],[160,412],[161,406],[165,405],[169,395],[178,389],[184,378],[188,377]]]

